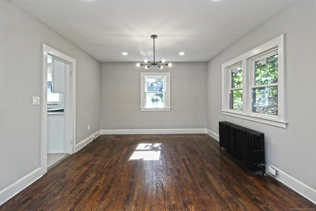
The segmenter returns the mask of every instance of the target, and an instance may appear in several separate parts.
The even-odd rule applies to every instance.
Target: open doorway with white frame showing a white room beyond
[[[43,174],[74,153],[76,60],[42,44],[41,167]]]

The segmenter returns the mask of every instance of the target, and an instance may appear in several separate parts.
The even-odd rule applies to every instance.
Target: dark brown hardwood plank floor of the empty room
[[[140,143],[161,143],[144,146]],[[129,160],[153,151],[159,160]],[[136,153],[136,154],[137,154]],[[207,134],[102,135],[0,211],[282,211],[316,205],[252,174]]]

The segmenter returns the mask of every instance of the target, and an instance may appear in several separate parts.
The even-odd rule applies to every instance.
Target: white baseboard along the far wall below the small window
[[[206,133],[206,129],[102,129],[101,135]]]

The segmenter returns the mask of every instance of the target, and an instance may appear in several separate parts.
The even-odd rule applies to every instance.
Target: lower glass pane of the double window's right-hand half
[[[277,86],[252,89],[252,112],[277,116]]]

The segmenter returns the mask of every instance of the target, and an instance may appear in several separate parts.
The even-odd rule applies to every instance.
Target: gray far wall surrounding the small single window
[[[151,72],[160,69],[152,67]],[[206,127],[206,63],[173,63],[171,111],[140,111],[140,72],[135,63],[101,64],[101,129]]]

